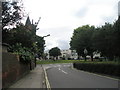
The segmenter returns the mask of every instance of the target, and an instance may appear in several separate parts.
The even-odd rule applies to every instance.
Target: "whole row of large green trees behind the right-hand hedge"
[[[112,25],[105,23],[101,27],[85,25],[74,30],[70,41],[71,49],[79,56],[84,56],[84,49],[93,57],[93,52],[99,52],[108,60],[120,61],[120,17]],[[93,60],[92,60],[93,61]]]

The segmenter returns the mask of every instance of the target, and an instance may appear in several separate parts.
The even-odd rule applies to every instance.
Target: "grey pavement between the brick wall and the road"
[[[46,88],[42,65],[37,65],[29,74],[9,87],[11,88]]]

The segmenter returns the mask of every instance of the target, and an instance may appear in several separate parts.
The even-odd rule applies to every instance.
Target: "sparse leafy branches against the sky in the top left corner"
[[[5,26],[19,24],[23,15],[21,2],[2,2],[2,29]]]

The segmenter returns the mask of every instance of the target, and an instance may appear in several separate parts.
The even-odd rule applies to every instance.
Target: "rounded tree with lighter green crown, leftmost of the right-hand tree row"
[[[85,25],[78,27],[74,30],[73,36],[70,41],[71,49],[75,49],[79,56],[85,56],[84,49],[87,49],[88,55],[91,56],[93,61],[93,45],[92,45],[92,34],[95,27]]]

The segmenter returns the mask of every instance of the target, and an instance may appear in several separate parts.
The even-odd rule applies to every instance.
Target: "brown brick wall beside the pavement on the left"
[[[2,52],[2,88],[8,88],[30,71],[30,64],[19,61],[18,55]]]

